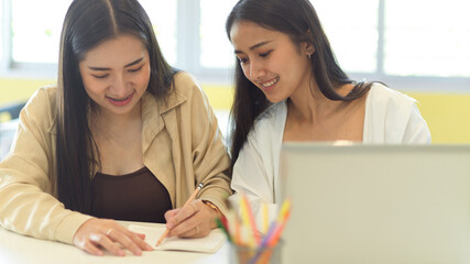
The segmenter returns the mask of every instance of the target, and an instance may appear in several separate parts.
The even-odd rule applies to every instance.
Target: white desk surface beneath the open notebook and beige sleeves
[[[121,222],[128,226],[129,222]],[[139,223],[155,226],[157,223]],[[225,243],[215,254],[178,252],[178,251],[146,251],[141,256],[132,253],[123,257],[107,253],[105,256],[94,256],[74,245],[54,241],[39,240],[10,232],[0,228],[0,263],[9,264],[63,264],[63,263],[229,263],[229,244]]]

